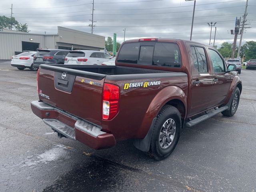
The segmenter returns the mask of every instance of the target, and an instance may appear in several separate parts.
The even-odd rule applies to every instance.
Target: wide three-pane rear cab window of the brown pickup
[[[180,49],[175,43],[134,42],[122,46],[117,62],[180,68]]]

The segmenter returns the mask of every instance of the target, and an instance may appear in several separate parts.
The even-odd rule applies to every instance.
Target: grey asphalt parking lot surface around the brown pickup
[[[242,70],[236,114],[184,128],[169,158],[152,160],[132,141],[92,150],[58,138],[30,109],[36,72],[0,61],[0,190],[256,191],[256,70]]]

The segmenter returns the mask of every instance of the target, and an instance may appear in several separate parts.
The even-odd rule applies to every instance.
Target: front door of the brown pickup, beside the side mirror
[[[216,50],[209,48],[209,55],[213,66],[213,87],[212,102],[216,105],[224,102],[230,87],[230,73],[226,73],[227,66],[220,54]]]

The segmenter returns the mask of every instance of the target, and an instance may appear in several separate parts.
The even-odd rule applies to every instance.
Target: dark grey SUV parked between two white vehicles
[[[64,49],[39,49],[34,55],[34,67],[40,64],[64,64],[64,59],[69,50]]]

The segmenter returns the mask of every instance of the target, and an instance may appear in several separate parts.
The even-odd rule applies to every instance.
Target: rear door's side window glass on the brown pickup
[[[208,66],[204,48],[197,46],[190,46],[192,58],[194,60],[194,67],[199,73],[207,73]]]

